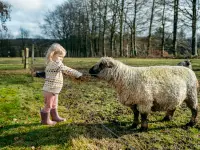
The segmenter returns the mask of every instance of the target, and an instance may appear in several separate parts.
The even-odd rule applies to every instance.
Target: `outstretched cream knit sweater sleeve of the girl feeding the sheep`
[[[58,62],[58,66],[59,66],[59,68],[58,68],[59,71],[62,71],[69,76],[73,76],[75,78],[79,78],[80,76],[82,76],[81,72],[65,66],[61,61]]]

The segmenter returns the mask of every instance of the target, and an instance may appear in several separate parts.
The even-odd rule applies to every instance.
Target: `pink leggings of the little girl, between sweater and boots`
[[[44,92],[44,108],[43,112],[50,112],[51,109],[58,107],[58,94],[53,94],[50,92]]]

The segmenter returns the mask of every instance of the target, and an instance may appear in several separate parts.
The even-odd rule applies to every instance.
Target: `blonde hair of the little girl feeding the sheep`
[[[52,57],[55,54],[63,55],[63,57],[66,55],[66,50],[58,43],[52,44],[46,53],[46,63],[49,63],[52,61]]]

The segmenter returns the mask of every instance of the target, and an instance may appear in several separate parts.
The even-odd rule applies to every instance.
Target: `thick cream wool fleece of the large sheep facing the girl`
[[[197,106],[195,73],[181,66],[131,67],[106,58],[114,66],[102,70],[99,77],[114,85],[119,101],[127,106],[138,104],[140,112],[173,110],[185,99]],[[105,62],[104,62],[105,63]],[[107,62],[109,63],[109,62]]]

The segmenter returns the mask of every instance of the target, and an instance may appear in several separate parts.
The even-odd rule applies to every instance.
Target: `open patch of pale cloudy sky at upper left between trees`
[[[19,35],[20,27],[30,32],[30,37],[42,35],[39,24],[48,10],[66,0],[4,0],[12,5],[11,21],[7,21],[8,30],[14,37]]]

